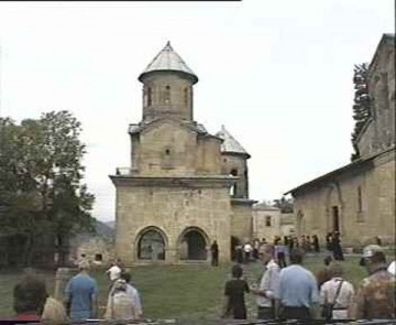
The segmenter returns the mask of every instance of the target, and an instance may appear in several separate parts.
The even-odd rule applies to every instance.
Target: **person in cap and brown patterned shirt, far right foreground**
[[[359,285],[349,311],[353,319],[396,318],[396,279],[387,271],[384,250],[378,245],[363,249],[364,266],[369,277]]]

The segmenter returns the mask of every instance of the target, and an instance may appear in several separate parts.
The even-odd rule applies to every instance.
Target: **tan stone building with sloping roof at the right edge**
[[[360,159],[288,193],[299,235],[339,230],[345,245],[395,242],[395,35],[384,34],[369,67],[371,118]],[[287,193],[286,193],[287,194]]]

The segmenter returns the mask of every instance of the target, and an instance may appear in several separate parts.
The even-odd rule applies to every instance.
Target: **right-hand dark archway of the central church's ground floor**
[[[198,227],[185,229],[178,240],[179,259],[185,261],[199,261],[208,259],[209,238]]]

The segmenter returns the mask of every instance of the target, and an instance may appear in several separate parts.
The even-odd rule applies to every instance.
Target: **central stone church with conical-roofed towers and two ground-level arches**
[[[220,262],[251,239],[250,154],[226,130],[194,120],[197,75],[169,43],[139,76],[142,120],[130,124],[131,165],[117,169],[116,254],[127,264]]]

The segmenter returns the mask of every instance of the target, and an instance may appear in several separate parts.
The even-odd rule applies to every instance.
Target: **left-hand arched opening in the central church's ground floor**
[[[144,230],[138,241],[138,259],[165,260],[165,239],[155,228]]]

